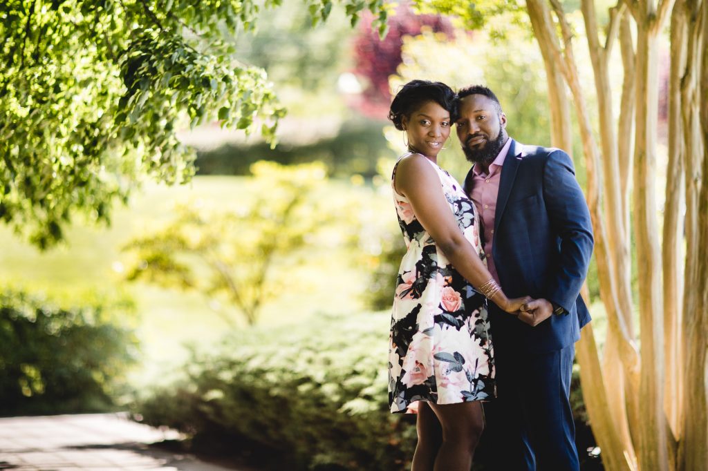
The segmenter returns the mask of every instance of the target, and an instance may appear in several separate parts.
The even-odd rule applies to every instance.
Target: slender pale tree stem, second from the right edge
[[[681,122],[681,77],[686,68],[688,23],[685,8],[676,5],[671,15],[671,66],[668,95],[668,167],[666,169],[666,204],[663,219],[663,285],[664,285],[664,412],[675,436],[680,436],[680,397],[683,382],[680,367],[683,335],[683,204],[685,194],[683,170],[683,126]]]

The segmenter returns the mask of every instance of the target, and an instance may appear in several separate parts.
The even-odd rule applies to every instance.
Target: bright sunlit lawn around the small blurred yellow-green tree
[[[356,197],[358,190],[329,182],[324,191],[336,192],[336,202]],[[67,231],[66,245],[44,253],[0,227],[4,249],[0,251],[0,283],[42,291],[63,303],[80,303],[92,291],[132,297],[140,316],[138,334],[144,357],[134,374],[139,385],[185,359],[185,343],[208,347],[215,342],[229,328],[223,316],[238,318],[238,313],[199,293],[124,281],[123,270],[131,254],[122,252],[122,246],[169,221],[175,204],[199,200],[207,206],[238,209],[248,204],[249,192],[251,182],[243,177],[198,177],[183,187],[148,185],[135,194],[129,207],[115,208],[109,228],[77,223]],[[307,263],[287,274],[286,280],[297,281],[297,291],[285,289],[283,296],[264,306],[261,324],[280,325],[317,313],[346,315],[362,309],[359,298],[365,289],[365,272],[352,269],[348,255],[336,245],[336,240],[326,243],[307,255]],[[283,277],[277,275],[280,282]]]

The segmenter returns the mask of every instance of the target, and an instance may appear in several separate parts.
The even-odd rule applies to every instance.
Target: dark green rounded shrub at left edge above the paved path
[[[23,291],[1,291],[0,414],[113,407],[136,357],[137,339],[125,326],[130,311],[125,301],[59,308]]]

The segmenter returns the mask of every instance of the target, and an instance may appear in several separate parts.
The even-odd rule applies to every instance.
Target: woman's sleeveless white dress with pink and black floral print
[[[484,260],[474,203],[449,173],[426,161],[438,173],[464,237]],[[494,397],[486,298],[435,245],[408,199],[396,193],[393,176],[394,203],[408,251],[399,269],[389,337],[391,412],[416,412],[418,400],[453,404]]]

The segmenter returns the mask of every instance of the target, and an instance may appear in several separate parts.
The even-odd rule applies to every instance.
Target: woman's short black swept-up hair
[[[396,93],[391,102],[389,110],[389,120],[399,131],[403,129],[403,117],[410,117],[413,111],[417,110],[428,101],[434,101],[442,106],[445,111],[450,112],[450,120],[456,120],[457,101],[452,88],[442,82],[431,82],[428,80],[411,80],[406,83],[399,93]]]

